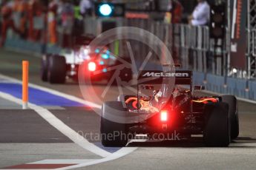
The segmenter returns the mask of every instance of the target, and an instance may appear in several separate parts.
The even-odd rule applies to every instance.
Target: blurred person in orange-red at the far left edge
[[[2,23],[1,23],[1,41],[0,41],[0,47],[4,45],[6,36],[7,36],[7,30],[11,28],[16,33],[19,33],[19,30],[16,29],[15,24],[13,22],[13,2],[3,0],[1,3],[1,17],[2,17]]]

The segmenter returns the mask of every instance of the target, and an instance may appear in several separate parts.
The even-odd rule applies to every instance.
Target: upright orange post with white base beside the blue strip
[[[22,109],[28,108],[28,66],[28,61],[22,61]]]

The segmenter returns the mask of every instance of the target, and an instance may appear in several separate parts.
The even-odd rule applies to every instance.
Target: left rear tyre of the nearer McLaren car
[[[128,143],[127,128],[125,123],[116,123],[109,120],[111,115],[120,115],[121,117],[127,114],[127,111],[122,106],[122,102],[109,101],[102,105],[102,118],[100,133],[102,137],[102,145],[106,147],[122,147]]]

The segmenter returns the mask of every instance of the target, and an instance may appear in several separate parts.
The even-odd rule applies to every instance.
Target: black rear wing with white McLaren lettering
[[[138,76],[138,84],[163,84],[164,81],[172,80],[175,81],[175,84],[191,85],[192,72],[186,70],[177,70],[175,72],[143,70]]]

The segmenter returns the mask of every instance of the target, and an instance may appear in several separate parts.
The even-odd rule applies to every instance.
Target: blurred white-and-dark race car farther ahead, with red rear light
[[[121,62],[114,57],[108,47],[91,47],[93,36],[76,38],[73,50],[62,50],[60,54],[47,54],[42,57],[41,79],[50,84],[65,84],[67,78],[78,80],[79,67],[83,65],[85,80],[102,81],[108,80],[114,71],[108,71]],[[77,40],[78,39],[78,40]],[[127,58],[122,60],[128,61]],[[125,69],[122,80],[132,79],[131,69]]]

